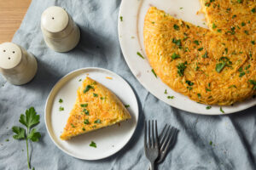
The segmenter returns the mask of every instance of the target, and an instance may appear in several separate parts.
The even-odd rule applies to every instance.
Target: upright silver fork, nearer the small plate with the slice
[[[150,161],[151,170],[154,170],[154,161],[159,156],[157,121],[153,121],[153,120],[151,121],[151,134],[152,134],[152,137],[150,136],[150,121],[148,121],[148,142],[147,142],[147,122],[145,121],[144,150],[145,150],[146,157]]]

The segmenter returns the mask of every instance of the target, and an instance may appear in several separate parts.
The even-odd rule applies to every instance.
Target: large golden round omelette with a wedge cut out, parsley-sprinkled
[[[232,105],[256,94],[255,1],[236,2],[201,0],[210,29],[148,8],[144,47],[162,82],[207,105]]]

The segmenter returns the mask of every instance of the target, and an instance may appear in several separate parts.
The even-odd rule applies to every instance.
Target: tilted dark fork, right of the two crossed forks
[[[177,133],[177,128],[171,127],[170,125],[167,127],[166,124],[165,127],[163,128],[159,136],[160,156],[156,160],[157,164],[165,160],[169,148],[174,144],[175,139],[177,138]],[[150,170],[150,167],[148,167],[148,170]]]

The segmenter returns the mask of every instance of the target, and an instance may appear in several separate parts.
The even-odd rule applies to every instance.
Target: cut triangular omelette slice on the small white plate
[[[77,95],[61,134],[63,140],[131,118],[122,102],[108,88],[90,77],[86,77]]]

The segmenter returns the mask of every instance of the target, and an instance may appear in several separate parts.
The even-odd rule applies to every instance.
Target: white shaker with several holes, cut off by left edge
[[[35,57],[13,42],[0,44],[0,73],[15,85],[30,82],[38,71]]]

